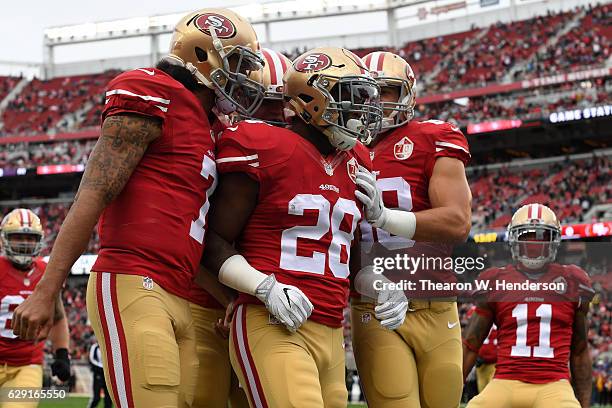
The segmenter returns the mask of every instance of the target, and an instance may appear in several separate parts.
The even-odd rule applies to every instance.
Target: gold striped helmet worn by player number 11
[[[537,270],[553,262],[561,243],[561,224],[545,205],[527,204],[519,208],[508,225],[512,259]]]

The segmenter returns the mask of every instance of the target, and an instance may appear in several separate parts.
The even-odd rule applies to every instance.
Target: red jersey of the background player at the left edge
[[[0,364],[19,367],[43,362],[45,342],[34,344],[17,338],[11,329],[11,319],[17,306],[34,291],[46,266],[37,258],[29,270],[22,271],[7,258],[0,257]]]

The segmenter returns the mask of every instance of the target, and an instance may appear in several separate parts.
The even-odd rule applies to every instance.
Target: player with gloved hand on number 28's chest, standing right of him
[[[415,77],[400,56],[374,52],[364,62],[381,87],[384,118],[378,136],[366,140],[376,175],[357,172],[363,191],[357,197],[372,224],[362,223],[362,240],[394,250],[423,242],[429,255],[449,256],[450,244],[463,242],[471,226],[467,140],[449,123],[412,120]],[[368,403],[377,408],[456,407],[463,382],[453,297],[422,296],[407,305],[403,293],[375,290],[381,275],[365,271],[355,277],[355,288],[375,301],[353,297],[352,340]],[[395,306],[389,307],[394,298]]]

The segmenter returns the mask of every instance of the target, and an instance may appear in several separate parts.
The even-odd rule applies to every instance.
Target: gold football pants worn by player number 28
[[[239,305],[231,332],[232,366],[251,407],[346,407],[341,327],[306,321],[291,333],[264,306]]]

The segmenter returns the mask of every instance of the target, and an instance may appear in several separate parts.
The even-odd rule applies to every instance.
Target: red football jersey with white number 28
[[[223,132],[219,173],[259,182],[259,198],[241,236],[240,253],[256,269],[300,288],[314,305],[311,320],[341,327],[349,290],[349,254],[363,207],[355,197],[358,164],[371,169],[358,143],[324,158],[288,129],[244,121]],[[238,303],[260,303],[240,294]]]

